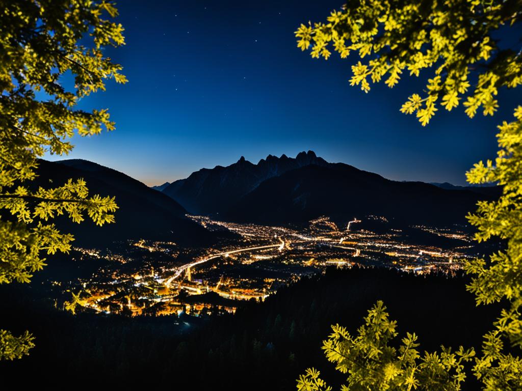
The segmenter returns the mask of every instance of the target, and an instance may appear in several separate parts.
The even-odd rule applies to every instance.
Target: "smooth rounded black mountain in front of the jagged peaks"
[[[337,163],[309,165],[264,181],[223,218],[261,224],[300,223],[321,215],[346,221],[367,214],[396,223],[453,224],[484,198],[468,190],[444,190],[423,182],[397,182]]]

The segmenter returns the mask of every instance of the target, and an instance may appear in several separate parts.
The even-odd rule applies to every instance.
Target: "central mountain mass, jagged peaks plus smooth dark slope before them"
[[[328,163],[308,151],[295,158],[268,155],[257,164],[241,157],[226,167],[200,169],[162,192],[190,213],[234,222],[287,224],[321,215],[337,221],[378,215],[402,225],[451,225],[466,223],[477,201],[493,199],[500,188],[394,181]]]

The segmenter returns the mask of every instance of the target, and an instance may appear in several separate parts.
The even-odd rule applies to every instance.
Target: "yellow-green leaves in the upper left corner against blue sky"
[[[0,13],[0,191],[14,180],[32,179],[35,157],[46,151],[68,153],[67,141],[111,130],[106,109],[74,110],[81,96],[105,89],[105,80],[125,82],[121,65],[106,57],[105,45],[124,44],[121,25],[110,2],[8,2]],[[88,46],[88,36],[92,37]],[[79,39],[82,39],[82,44]],[[23,70],[23,71],[22,71]],[[60,76],[71,72],[75,90],[66,91]],[[44,93],[36,99],[35,91]]]

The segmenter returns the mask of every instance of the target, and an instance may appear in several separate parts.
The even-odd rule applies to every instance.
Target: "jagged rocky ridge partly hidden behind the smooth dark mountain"
[[[227,167],[200,169],[186,179],[172,182],[163,192],[191,213],[218,213],[228,210],[264,180],[310,164],[327,166],[329,163],[312,151],[301,152],[295,158],[268,155],[257,164],[241,157]]]

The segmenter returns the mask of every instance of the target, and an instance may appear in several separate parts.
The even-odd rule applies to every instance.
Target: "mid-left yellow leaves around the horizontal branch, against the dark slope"
[[[18,186],[0,194],[0,209],[7,209],[18,223],[0,219],[0,284],[30,281],[31,273],[44,265],[40,252],[68,252],[73,236],[61,234],[53,224],[43,224],[56,216],[67,215],[75,223],[87,215],[97,225],[114,222],[117,209],[114,197],[89,197],[82,179],[69,179],[64,186],[31,192]]]

